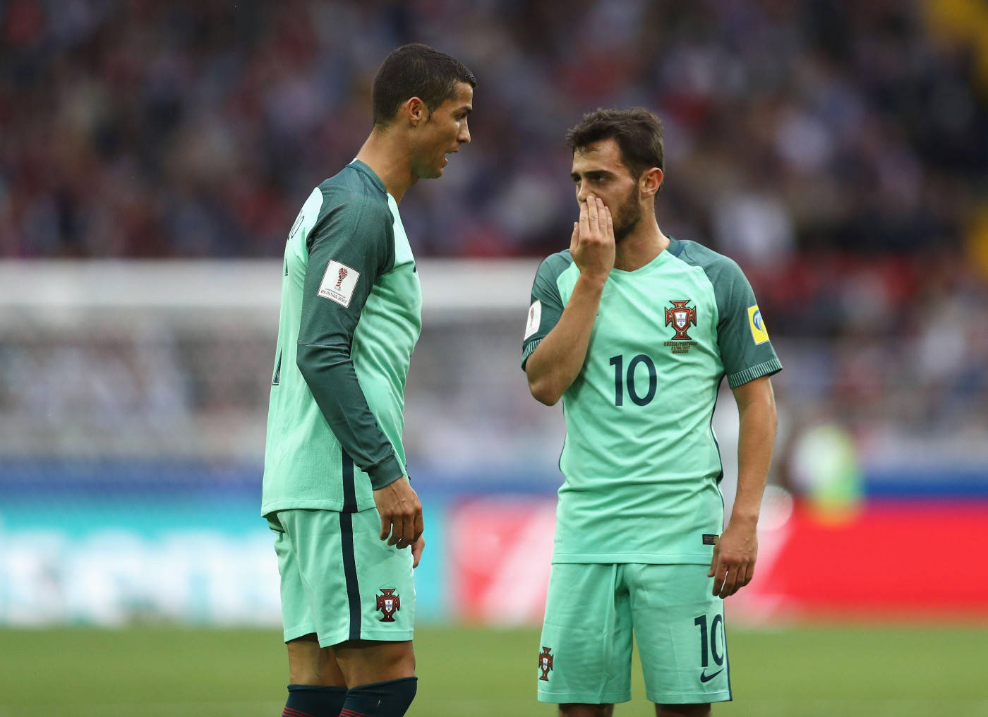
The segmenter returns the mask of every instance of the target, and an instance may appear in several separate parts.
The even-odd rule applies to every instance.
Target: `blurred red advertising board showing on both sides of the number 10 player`
[[[456,617],[541,620],[554,513],[552,499],[470,499],[452,507]],[[728,610],[748,620],[988,617],[986,538],[986,502],[879,502],[842,517],[797,504],[763,520],[755,580],[728,599]]]

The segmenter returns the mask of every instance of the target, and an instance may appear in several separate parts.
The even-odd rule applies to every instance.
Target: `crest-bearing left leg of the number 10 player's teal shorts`
[[[538,654],[538,700],[608,704],[631,698],[631,618],[620,566],[555,563]]]

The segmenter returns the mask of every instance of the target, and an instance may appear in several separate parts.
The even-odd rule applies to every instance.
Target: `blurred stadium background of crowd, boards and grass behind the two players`
[[[565,245],[575,213],[562,135],[610,106],[663,118],[660,224],[743,266],[785,365],[759,574],[728,602],[743,626],[732,640],[772,644],[784,666],[786,646],[831,639],[813,668],[824,673],[826,655],[852,664],[865,643],[894,665],[912,640],[975,674],[963,641],[983,656],[983,3],[10,0],[0,1],[0,714],[59,699],[73,704],[66,714],[143,704],[111,689],[86,712],[81,697],[40,696],[12,677],[18,667],[65,677],[54,655],[95,655],[94,640],[120,650],[107,672],[136,665],[135,634],[185,645],[255,636],[244,652],[262,662],[238,670],[257,673],[260,702],[231,697],[209,714],[277,702],[277,566],[257,506],[278,258],[311,187],[369,131],[380,60],[412,40],[478,77],[471,145],[442,182],[402,201],[426,301],[406,394],[428,525],[423,639],[447,656],[482,650],[523,676],[449,713],[535,709],[527,626],[540,618],[562,416],[528,395],[520,336],[537,262]],[[719,406],[729,499],[736,418],[728,394]],[[504,625],[521,627],[492,627]],[[232,631],[213,632],[222,627]],[[786,639],[772,642],[780,630]],[[862,634],[881,637],[849,648]],[[758,687],[757,665],[746,667]],[[983,686],[930,681],[936,665],[919,662],[897,671],[905,678],[887,698],[873,666],[860,685],[835,671],[817,685],[818,706],[846,698],[845,714],[855,700],[911,714],[919,700],[916,714],[988,713]],[[198,694],[196,679],[155,697],[157,713],[184,713],[200,699],[183,696]],[[911,700],[917,683],[928,691]],[[815,713],[786,707],[807,692],[785,684],[749,695],[751,714]]]

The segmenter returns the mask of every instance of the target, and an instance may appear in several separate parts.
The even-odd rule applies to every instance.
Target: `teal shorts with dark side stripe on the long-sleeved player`
[[[412,551],[381,540],[376,509],[279,511],[268,516],[282,576],[285,641],[411,640]]]

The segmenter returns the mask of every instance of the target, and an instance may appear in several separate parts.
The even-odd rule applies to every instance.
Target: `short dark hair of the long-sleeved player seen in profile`
[[[457,82],[477,86],[477,78],[462,62],[438,49],[419,42],[398,47],[384,59],[373,80],[374,126],[389,124],[398,107],[412,97],[435,111],[453,97]]]

